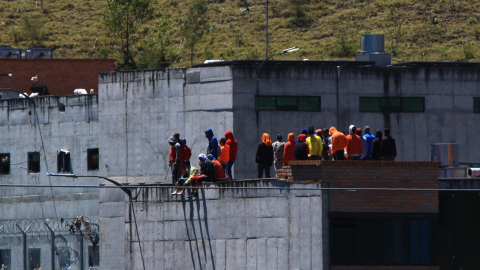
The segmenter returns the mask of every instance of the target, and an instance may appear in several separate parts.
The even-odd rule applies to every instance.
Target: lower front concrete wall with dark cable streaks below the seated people
[[[219,185],[319,186],[284,181]],[[104,195],[101,198],[108,201],[100,202],[102,268],[143,269],[125,195],[123,200],[113,191]],[[104,216],[103,209],[114,205],[125,211]],[[200,199],[189,200],[152,187],[142,189],[134,205],[147,269],[328,269],[328,246],[323,244],[328,236],[328,197],[322,191],[206,190]]]

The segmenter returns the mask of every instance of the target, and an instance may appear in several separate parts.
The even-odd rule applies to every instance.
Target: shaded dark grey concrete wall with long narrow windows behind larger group
[[[431,143],[459,143],[461,161],[480,161],[474,134],[480,121],[473,113],[480,69],[362,67],[233,67],[234,134],[239,143],[237,175],[256,175],[255,151],[262,133],[274,139],[302,128],[336,126],[348,130],[370,126],[372,133],[390,127],[397,141],[397,160],[427,161]],[[255,95],[321,96],[321,112],[255,111]],[[360,96],[421,96],[425,112],[361,113]],[[241,173],[238,174],[238,171]],[[273,172],[273,169],[272,169]]]

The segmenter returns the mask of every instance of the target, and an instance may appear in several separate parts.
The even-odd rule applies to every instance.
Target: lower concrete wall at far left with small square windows
[[[11,161],[10,174],[0,175],[0,183],[97,185],[97,178],[47,177],[47,172],[57,173],[57,153],[62,148],[70,150],[73,173],[98,173],[87,171],[87,148],[99,146],[97,95],[41,97],[35,102],[40,125],[26,99],[0,101],[0,153],[10,153]],[[58,110],[60,103],[65,105],[63,113]],[[27,153],[32,151],[40,152],[40,173],[26,170]],[[0,194],[1,219],[98,216],[96,189],[4,187]]]

